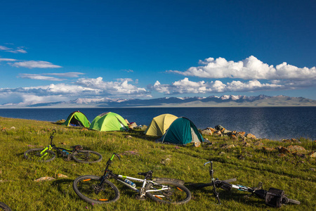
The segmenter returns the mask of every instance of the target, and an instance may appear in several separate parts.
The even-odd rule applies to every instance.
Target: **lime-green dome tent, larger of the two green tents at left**
[[[91,122],[89,129],[98,131],[128,131],[126,121],[117,113],[102,113]]]

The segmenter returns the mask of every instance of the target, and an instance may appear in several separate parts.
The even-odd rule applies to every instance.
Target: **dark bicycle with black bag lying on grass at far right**
[[[230,184],[232,181],[236,181],[236,179],[227,179],[227,180],[219,180],[218,178],[214,179],[213,177],[213,162],[205,162],[204,166],[211,162],[211,167],[209,167],[209,175],[211,177],[211,183],[209,184],[203,184],[202,186],[199,186],[199,188],[204,188],[206,186],[213,186],[213,193],[216,199],[218,200],[218,203],[220,204],[220,198],[218,196],[218,192],[216,191],[216,188],[223,188],[225,191],[230,191],[232,188],[235,188],[239,191],[246,191],[251,193],[250,196],[256,195],[258,198],[265,199],[265,204],[269,205],[270,207],[281,207],[283,204],[287,203],[294,203],[296,205],[299,205],[300,202],[298,200],[293,200],[290,198],[287,198],[287,196],[284,194],[283,190],[279,190],[277,188],[270,188],[268,191],[265,191],[261,189],[262,183],[259,183],[258,188],[250,188],[247,186],[242,185],[235,185]]]

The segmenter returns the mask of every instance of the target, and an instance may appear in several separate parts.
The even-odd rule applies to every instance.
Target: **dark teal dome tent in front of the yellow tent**
[[[203,142],[204,139],[193,122],[185,117],[178,117],[170,125],[162,143],[187,144],[191,142]]]

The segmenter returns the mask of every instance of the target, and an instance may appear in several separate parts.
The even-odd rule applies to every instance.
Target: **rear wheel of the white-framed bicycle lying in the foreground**
[[[168,189],[157,191],[163,186]],[[159,181],[159,184],[148,183],[146,185],[146,196],[159,203],[184,204],[191,199],[191,192],[185,186],[173,181]]]

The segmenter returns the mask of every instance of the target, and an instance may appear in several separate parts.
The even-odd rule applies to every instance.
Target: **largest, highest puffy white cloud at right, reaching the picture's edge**
[[[263,63],[254,56],[241,61],[228,61],[225,58],[206,58],[199,60],[200,66],[191,67],[185,72],[169,70],[185,76],[204,78],[239,78],[239,79],[316,79],[316,68],[298,68],[282,63],[274,67]]]

